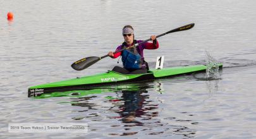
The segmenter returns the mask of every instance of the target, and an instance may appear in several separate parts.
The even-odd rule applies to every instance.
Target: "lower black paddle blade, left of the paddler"
[[[71,64],[71,67],[77,71],[81,71],[92,64],[97,63],[99,60],[101,60],[101,58],[96,56],[86,57]]]

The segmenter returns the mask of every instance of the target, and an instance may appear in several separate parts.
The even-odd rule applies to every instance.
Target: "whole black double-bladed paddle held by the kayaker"
[[[173,33],[173,32],[180,32],[180,31],[183,31],[183,30],[189,30],[190,28],[193,28],[195,25],[195,23],[190,23],[188,25],[185,25],[185,26],[182,26],[182,27],[178,27],[178,28],[175,28],[173,30],[170,30],[169,32],[166,32],[166,33],[162,33],[160,35],[157,35],[156,37],[161,37],[163,35],[166,35],[168,33]],[[138,45],[140,44],[143,44],[145,42],[148,42],[149,40],[151,39],[147,39],[147,40],[144,40],[143,42],[140,42],[138,44],[135,44],[135,45],[132,45],[131,47],[137,47]],[[126,47],[125,49],[121,49],[119,51],[116,51],[114,52],[114,54],[118,53],[118,52],[121,52],[121,51],[124,51],[126,49],[129,49],[131,47]],[[76,61],[75,63],[71,64],[71,67],[77,71],[81,71],[85,68],[88,68],[89,66],[91,66],[92,64],[94,63],[97,63],[99,60],[105,58],[105,57],[108,57],[109,55],[106,54],[105,56],[102,56],[102,57],[96,57],[96,56],[90,56],[90,57],[85,57],[83,59],[80,59],[78,61]]]

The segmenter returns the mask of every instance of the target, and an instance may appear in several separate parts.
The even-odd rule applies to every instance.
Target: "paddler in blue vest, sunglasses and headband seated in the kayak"
[[[134,44],[140,43],[143,40],[135,40],[135,35],[133,33],[133,27],[131,25],[126,25],[123,27],[123,38],[125,42],[119,45],[116,48],[116,51],[119,51],[125,47],[130,47]],[[126,49],[125,51],[118,52],[114,54],[114,52],[108,52],[108,55],[112,58],[116,58],[122,56],[123,68],[119,66],[115,66],[113,71],[123,74],[140,74],[147,73],[149,70],[149,65],[144,60],[143,50],[144,49],[157,49],[159,47],[159,43],[155,37],[152,35],[151,37],[152,43],[145,42],[143,44],[138,45],[136,48],[132,47],[130,49]]]

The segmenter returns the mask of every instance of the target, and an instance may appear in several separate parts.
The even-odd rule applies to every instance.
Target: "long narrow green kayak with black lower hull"
[[[222,68],[222,64],[218,64]],[[138,75],[123,75],[115,71],[107,71],[92,76],[83,76],[61,82],[46,83],[28,88],[28,97],[37,97],[42,94],[75,90],[78,88],[94,87],[99,85],[111,85],[114,83],[133,83],[144,80],[154,80],[171,76],[185,75],[189,73],[203,72],[207,69],[205,65],[180,66],[164,69],[150,69],[148,73]]]

